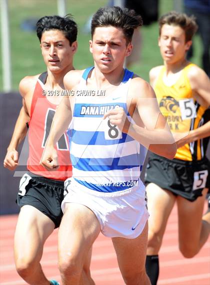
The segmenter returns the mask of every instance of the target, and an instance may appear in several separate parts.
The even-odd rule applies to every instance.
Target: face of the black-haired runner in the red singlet
[[[77,44],[74,42],[70,46],[61,31],[45,31],[41,36],[40,47],[44,63],[51,72],[59,73],[72,66]]]

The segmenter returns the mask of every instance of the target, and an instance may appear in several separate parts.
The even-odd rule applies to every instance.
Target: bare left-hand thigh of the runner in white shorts
[[[100,224],[94,213],[76,203],[66,203],[58,231],[59,262],[75,260],[83,266],[89,262],[88,252],[100,232]]]

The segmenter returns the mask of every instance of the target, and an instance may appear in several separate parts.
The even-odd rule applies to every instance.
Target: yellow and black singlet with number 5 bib
[[[187,134],[188,131],[197,129],[204,123],[203,114],[206,108],[194,100],[187,77],[188,70],[193,65],[190,63],[183,68],[180,77],[171,86],[163,82],[165,67],[162,67],[154,84],[160,111],[167,117],[171,132]],[[200,139],[178,148],[174,158],[192,161],[200,160],[203,155],[202,139]]]

